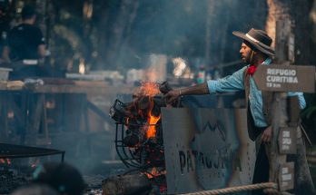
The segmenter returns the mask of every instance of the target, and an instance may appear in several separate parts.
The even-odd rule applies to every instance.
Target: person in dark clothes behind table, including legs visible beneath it
[[[21,12],[22,23],[12,28],[6,40],[4,49],[4,60],[8,63],[13,72],[9,73],[9,80],[25,80],[29,77],[45,76],[46,71],[44,65],[39,63],[39,60],[45,56],[44,36],[41,30],[35,26],[36,11],[32,5],[25,5]],[[38,94],[30,96],[30,112],[28,117],[33,122],[37,119],[37,111],[35,107],[41,105],[42,99],[39,99]],[[12,98],[11,98],[12,97]],[[38,101],[41,100],[41,101]],[[11,102],[12,101],[12,102]],[[19,94],[10,94],[10,103],[22,105]],[[37,111],[37,112],[36,112]],[[17,121],[17,132],[20,132],[23,126]]]

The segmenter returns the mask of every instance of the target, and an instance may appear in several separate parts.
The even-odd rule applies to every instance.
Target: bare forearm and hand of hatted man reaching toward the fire
[[[207,83],[201,83],[190,87],[175,89],[166,93],[164,97],[166,98],[167,102],[175,101],[181,95],[203,95],[209,94],[209,87]]]

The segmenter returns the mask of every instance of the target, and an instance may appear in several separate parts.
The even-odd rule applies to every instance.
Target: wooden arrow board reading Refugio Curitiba
[[[262,91],[304,92],[315,90],[315,67],[303,65],[260,65],[253,74]]]

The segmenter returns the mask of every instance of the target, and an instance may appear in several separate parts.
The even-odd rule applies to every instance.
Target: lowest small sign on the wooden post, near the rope
[[[294,162],[287,162],[281,165],[279,171],[279,187],[281,191],[294,188]]]

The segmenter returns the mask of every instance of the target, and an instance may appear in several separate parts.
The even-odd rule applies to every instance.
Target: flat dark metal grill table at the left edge
[[[0,143],[1,159],[15,159],[61,154],[62,162],[64,162],[64,153],[65,151],[59,151],[54,149]]]

